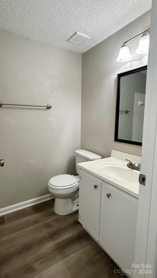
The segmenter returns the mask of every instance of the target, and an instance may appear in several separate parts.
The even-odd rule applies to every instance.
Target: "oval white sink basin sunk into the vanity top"
[[[129,183],[138,183],[140,172],[117,162],[102,162],[97,165],[97,170],[105,176]]]

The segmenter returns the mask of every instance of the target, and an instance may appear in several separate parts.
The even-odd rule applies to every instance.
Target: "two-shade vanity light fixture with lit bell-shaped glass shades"
[[[127,61],[130,61],[132,59],[132,56],[130,54],[130,50],[127,46],[127,43],[129,41],[132,41],[133,39],[141,36],[140,38],[140,41],[139,41],[139,45],[138,45],[138,48],[136,50],[136,53],[137,54],[148,54],[148,49],[149,49],[149,32],[150,29],[148,30],[145,30],[144,32],[138,34],[137,36],[131,38],[131,39],[128,39],[128,41],[125,41],[123,43],[123,45],[121,46],[120,48],[120,51],[119,51],[119,56],[117,57],[117,62],[127,62]]]

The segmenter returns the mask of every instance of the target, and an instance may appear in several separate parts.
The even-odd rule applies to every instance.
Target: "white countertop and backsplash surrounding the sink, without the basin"
[[[119,157],[120,159],[118,159],[117,157]],[[97,165],[99,165],[102,162],[109,162],[109,163],[113,162],[113,163],[117,163],[117,165],[120,164],[120,165],[123,165],[123,167],[127,167],[128,162],[125,161],[125,158],[132,160],[132,163],[136,163],[136,164],[139,164],[141,161],[141,158],[137,157],[135,155],[130,155],[127,153],[112,150],[111,157],[102,158],[99,160],[92,160],[92,161],[83,162],[83,163],[78,163],[77,165],[80,169],[83,169],[86,172],[91,173],[92,175],[100,178],[101,180],[104,180],[105,182],[108,182],[108,183],[114,185],[115,187],[118,187],[121,190],[138,198],[138,193],[139,193],[138,175],[140,174],[140,171],[127,168],[127,171],[129,171],[128,173],[129,173],[130,177],[133,174],[133,172],[136,172],[134,174],[137,174],[137,182],[128,182],[126,180],[121,180],[121,179],[119,180],[114,177],[110,177],[105,172],[102,173],[98,169],[99,167],[97,167]],[[131,178],[130,178],[130,180],[131,180]]]

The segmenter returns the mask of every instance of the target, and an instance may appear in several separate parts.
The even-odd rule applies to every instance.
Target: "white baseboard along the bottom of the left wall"
[[[4,214],[7,214],[7,213],[10,213],[10,212],[13,212],[13,211],[16,211],[16,210],[20,210],[20,209],[24,209],[24,208],[27,208],[27,207],[30,207],[30,206],[33,206],[33,205],[37,205],[39,203],[46,202],[46,201],[54,199],[54,198],[55,197],[53,197],[52,194],[47,194],[47,195],[43,195],[41,197],[37,197],[37,198],[31,199],[31,200],[27,200],[27,201],[24,201],[24,202],[15,204],[15,205],[11,205],[9,207],[5,207],[5,208],[0,209],[0,216],[4,215]]]

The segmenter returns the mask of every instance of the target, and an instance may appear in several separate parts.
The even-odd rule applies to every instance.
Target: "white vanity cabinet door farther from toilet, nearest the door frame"
[[[124,269],[132,269],[134,263],[137,205],[137,198],[110,185],[106,192],[102,186],[100,241]]]

